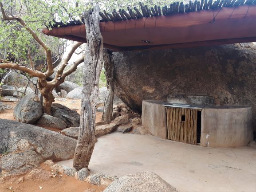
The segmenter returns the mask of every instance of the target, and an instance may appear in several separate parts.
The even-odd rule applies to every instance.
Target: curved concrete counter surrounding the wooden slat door
[[[252,141],[252,108],[247,106],[192,106],[166,101],[142,102],[142,125],[162,139],[167,139],[165,107],[201,110],[200,145],[205,147],[238,147]]]

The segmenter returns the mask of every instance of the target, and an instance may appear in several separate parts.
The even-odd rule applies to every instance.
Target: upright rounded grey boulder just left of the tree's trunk
[[[43,115],[43,106],[39,97],[34,93],[29,93],[17,103],[13,116],[16,121],[33,124]]]

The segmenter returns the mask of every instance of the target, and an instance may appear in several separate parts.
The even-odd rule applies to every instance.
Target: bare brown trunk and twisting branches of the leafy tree
[[[34,65],[33,59],[30,55],[29,49],[28,49],[28,59],[29,59],[30,67],[19,65],[17,63],[12,63],[10,61],[0,58],[0,69],[3,69],[3,68],[16,69],[16,70],[28,73],[31,77],[37,77],[38,78],[37,86],[44,98],[44,101],[43,101],[44,113],[51,115],[51,104],[52,104],[52,102],[55,101],[54,96],[52,94],[52,90],[56,86],[59,86],[61,83],[63,83],[65,78],[67,77],[67,75],[74,72],[76,70],[77,66],[84,61],[84,57],[81,57],[72,64],[71,68],[69,68],[67,71],[64,71],[65,67],[67,66],[67,64],[68,64],[69,60],[71,59],[71,56],[73,55],[75,50],[83,43],[75,43],[75,45],[72,47],[71,51],[69,51],[67,56],[65,58],[61,59],[61,66],[60,66],[59,70],[57,71],[55,78],[53,80],[51,80],[50,82],[47,82],[46,79],[51,74],[54,73],[53,69],[54,69],[55,65],[59,64],[60,58],[55,60],[55,62],[53,62],[53,59],[55,57],[51,58],[51,49],[49,49],[49,47],[47,47],[46,43],[44,43],[39,38],[39,36],[36,35],[35,31],[33,31],[30,27],[28,27],[28,25],[24,22],[24,20],[22,20],[22,18],[20,18],[20,16],[8,15],[8,13],[6,13],[4,11],[3,4],[1,2],[0,2],[0,12],[2,13],[3,20],[5,20],[5,21],[16,20],[17,22],[19,22],[21,24],[21,26],[24,27],[32,35],[32,37],[35,39],[35,41],[45,50],[46,57],[47,57],[47,63],[43,66],[43,68],[45,66],[47,66],[47,71],[44,73],[44,72],[42,72],[43,68],[41,69],[41,71],[37,71],[35,69],[35,65]],[[11,71],[10,71],[10,73],[11,73]],[[8,74],[10,74],[10,73],[8,73]],[[27,86],[28,86],[28,84],[27,84]],[[26,89],[27,89],[27,86],[26,86]],[[25,91],[26,91],[26,89],[25,89]]]

